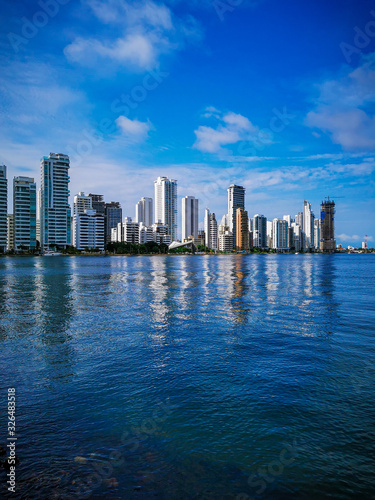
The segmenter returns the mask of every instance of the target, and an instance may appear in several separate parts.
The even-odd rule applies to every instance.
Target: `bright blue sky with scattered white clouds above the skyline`
[[[71,156],[71,194],[134,216],[153,180],[218,218],[316,214],[375,238],[375,0],[3,0],[0,162],[39,183]],[[179,200],[180,208],[180,200]]]

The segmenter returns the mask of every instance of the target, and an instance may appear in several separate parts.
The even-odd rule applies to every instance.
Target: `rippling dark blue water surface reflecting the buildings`
[[[1,258],[0,498],[375,498],[374,278],[375,255]]]

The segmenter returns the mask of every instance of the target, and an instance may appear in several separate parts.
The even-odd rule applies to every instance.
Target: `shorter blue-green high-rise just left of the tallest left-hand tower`
[[[36,184],[31,177],[13,179],[14,249],[36,249]]]

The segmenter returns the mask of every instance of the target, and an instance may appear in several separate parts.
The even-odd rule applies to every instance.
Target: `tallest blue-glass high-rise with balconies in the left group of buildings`
[[[40,237],[43,249],[66,247],[71,243],[69,206],[69,156],[51,153],[41,166]]]

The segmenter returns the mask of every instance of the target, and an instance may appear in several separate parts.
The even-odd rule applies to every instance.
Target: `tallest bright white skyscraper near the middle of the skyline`
[[[154,182],[155,222],[168,225],[168,234],[177,239],[177,181],[158,177]]]

